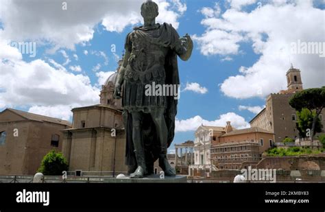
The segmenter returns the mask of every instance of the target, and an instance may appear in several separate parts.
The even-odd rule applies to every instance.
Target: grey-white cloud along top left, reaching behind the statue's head
[[[177,28],[186,5],[178,0],[156,2],[160,7],[157,21]],[[129,25],[141,23],[141,3],[143,0],[78,0],[67,1],[67,10],[62,10],[62,1],[1,1],[0,19],[6,38],[37,40],[38,44],[47,41],[53,45],[51,52],[55,52],[89,42],[97,24],[110,32],[122,32]]]

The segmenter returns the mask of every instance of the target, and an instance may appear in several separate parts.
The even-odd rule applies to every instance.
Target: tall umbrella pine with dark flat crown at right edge
[[[311,146],[313,147],[316,122],[325,107],[325,86],[321,89],[306,89],[295,93],[289,100],[289,104],[298,111],[301,111],[302,108],[307,108],[312,113],[312,111],[315,110],[315,116],[313,116],[313,124],[311,127]]]

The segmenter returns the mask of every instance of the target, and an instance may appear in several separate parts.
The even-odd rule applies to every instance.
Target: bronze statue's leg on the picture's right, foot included
[[[176,175],[176,170],[171,167],[167,159],[167,125],[164,117],[164,109],[152,111],[152,120],[156,126],[158,139],[160,142],[159,166],[164,170],[166,176]]]

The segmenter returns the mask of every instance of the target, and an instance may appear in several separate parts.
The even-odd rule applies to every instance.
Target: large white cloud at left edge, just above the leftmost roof
[[[0,49],[8,50],[0,54],[2,108],[32,107],[31,111],[43,111],[44,115],[53,115],[53,110],[55,117],[68,119],[71,107],[98,104],[99,89],[91,85],[88,76],[70,73],[52,59],[49,63],[40,59],[25,62],[1,39]]]

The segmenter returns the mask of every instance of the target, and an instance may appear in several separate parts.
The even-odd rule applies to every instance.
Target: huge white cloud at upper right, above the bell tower
[[[231,1],[231,8],[220,17],[209,12],[201,22],[206,31],[193,36],[205,56],[241,54],[242,43],[252,43],[254,53],[261,55],[251,67],[241,67],[239,74],[224,80],[221,91],[245,99],[286,89],[289,59],[301,70],[304,88],[324,85],[324,58],[290,51],[291,43],[297,40],[325,41],[325,28],[320,27],[324,25],[324,10],[313,8],[312,1],[263,1],[255,10],[241,11],[243,5],[251,3],[254,1]]]

